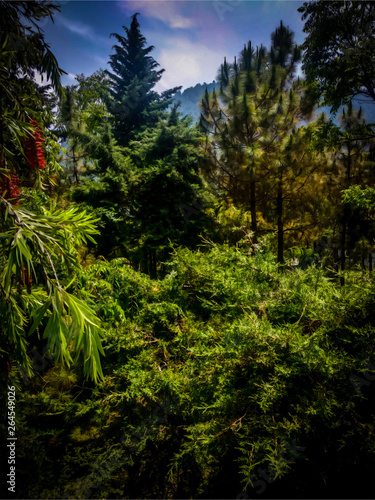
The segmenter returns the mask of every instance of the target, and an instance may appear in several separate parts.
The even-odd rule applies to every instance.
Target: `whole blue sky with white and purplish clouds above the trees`
[[[109,55],[117,42],[111,33],[125,35],[131,16],[138,21],[153,58],[165,72],[158,92],[216,79],[224,57],[233,61],[245,43],[270,46],[270,36],[283,23],[304,40],[299,0],[60,0],[54,22],[42,29],[64,75],[63,85],[76,83],[75,75],[110,69]]]

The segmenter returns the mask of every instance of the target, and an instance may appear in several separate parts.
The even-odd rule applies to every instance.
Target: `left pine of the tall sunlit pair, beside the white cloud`
[[[224,63],[218,75],[220,95],[206,91],[201,102],[200,127],[203,143],[205,175],[225,199],[241,199],[251,211],[251,227],[256,240],[256,162],[257,142],[264,126],[262,111],[269,107],[270,82],[266,72],[266,50],[254,53],[249,42],[240,64]],[[243,186],[246,186],[243,192]],[[247,201],[244,198],[247,197]]]

